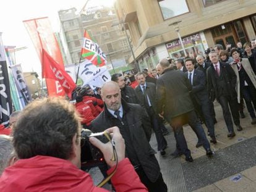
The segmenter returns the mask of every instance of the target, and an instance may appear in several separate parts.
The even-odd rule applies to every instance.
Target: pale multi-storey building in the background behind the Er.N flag
[[[79,14],[75,8],[60,10],[59,19],[72,63],[79,63],[83,33],[87,30],[105,53],[109,70],[128,64],[129,38],[121,30],[114,9],[90,7],[81,10]]]

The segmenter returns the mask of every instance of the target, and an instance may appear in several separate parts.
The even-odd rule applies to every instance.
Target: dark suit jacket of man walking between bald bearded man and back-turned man
[[[156,110],[156,85],[154,83],[146,82],[146,91],[153,109]],[[135,94],[139,99],[140,105],[144,106],[143,91],[140,88],[140,85],[135,88]]]

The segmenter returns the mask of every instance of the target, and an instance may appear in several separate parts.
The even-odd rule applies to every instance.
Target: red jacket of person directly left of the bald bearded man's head
[[[90,106],[94,117],[97,117],[101,113],[101,111],[103,111],[103,108],[101,108],[100,106],[103,107],[104,102],[101,99],[97,99],[93,96],[83,96],[83,102]],[[94,105],[93,103],[96,103],[96,105]]]

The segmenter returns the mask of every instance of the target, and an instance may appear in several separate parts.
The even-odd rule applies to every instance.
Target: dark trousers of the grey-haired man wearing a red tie
[[[240,125],[237,98],[231,98],[231,96],[220,96],[218,98],[218,102],[220,102],[220,105],[223,111],[223,117],[228,127],[228,131],[229,133],[233,133],[234,127],[233,127],[231,114],[232,114],[235,125]],[[229,112],[228,106],[231,109],[231,114]]]

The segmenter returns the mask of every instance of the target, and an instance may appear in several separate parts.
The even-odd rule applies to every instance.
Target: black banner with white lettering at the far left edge
[[[10,84],[6,64],[6,53],[2,44],[2,33],[0,33],[0,118],[1,124],[9,125],[9,116],[12,114],[12,101]]]

